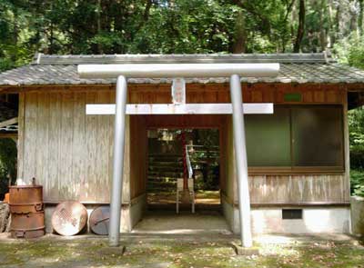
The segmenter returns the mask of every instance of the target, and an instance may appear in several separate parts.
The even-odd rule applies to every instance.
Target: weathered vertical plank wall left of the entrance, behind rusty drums
[[[86,115],[86,104],[114,100],[112,91],[20,95],[18,177],[35,177],[45,202],[109,202],[114,116]]]

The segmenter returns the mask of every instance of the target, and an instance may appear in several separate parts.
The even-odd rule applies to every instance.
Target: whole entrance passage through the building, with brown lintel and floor
[[[227,116],[167,114],[131,119],[131,140],[135,144],[132,146],[135,157],[131,162],[134,178],[131,188],[136,193],[134,196],[145,194],[140,196],[146,197],[143,212],[133,211],[136,216],[140,215],[133,232],[231,233],[220,200],[227,188],[224,131]],[[192,174],[188,172],[190,169]],[[183,191],[187,186],[183,185],[184,177],[194,181],[195,213],[191,210],[188,191]],[[182,180],[184,192],[179,194],[179,213],[176,207],[178,179]],[[137,199],[134,207],[137,207]]]

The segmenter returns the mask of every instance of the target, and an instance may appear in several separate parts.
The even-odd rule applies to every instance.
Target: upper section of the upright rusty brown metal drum
[[[10,186],[9,205],[11,213],[38,213],[43,211],[43,186]]]

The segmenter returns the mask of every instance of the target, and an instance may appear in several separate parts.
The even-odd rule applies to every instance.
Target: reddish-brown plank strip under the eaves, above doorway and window
[[[289,104],[287,93],[302,94],[292,104],[343,104],[347,98],[346,87],[339,84],[242,84],[242,90],[246,103]],[[187,84],[186,91],[187,103],[230,103],[228,84]],[[170,103],[170,85],[133,85],[128,97],[132,104]]]

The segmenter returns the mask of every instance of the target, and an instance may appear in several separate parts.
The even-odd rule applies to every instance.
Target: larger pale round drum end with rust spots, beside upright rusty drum
[[[59,203],[52,215],[52,226],[56,233],[75,235],[86,226],[86,207],[76,201]]]

